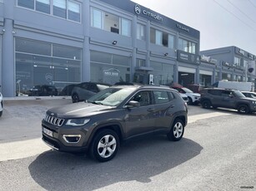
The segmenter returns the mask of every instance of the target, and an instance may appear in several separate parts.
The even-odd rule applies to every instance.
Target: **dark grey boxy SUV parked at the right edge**
[[[200,102],[203,108],[230,108],[243,114],[256,112],[256,100],[237,90],[205,88],[201,91]]]

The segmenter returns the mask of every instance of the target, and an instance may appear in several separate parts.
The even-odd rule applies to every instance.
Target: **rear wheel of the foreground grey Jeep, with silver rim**
[[[168,140],[178,141],[183,138],[184,134],[184,123],[183,120],[176,119],[173,122],[171,130],[168,132]]]

